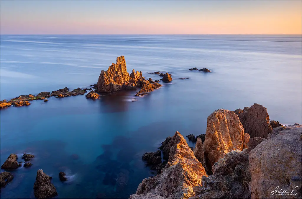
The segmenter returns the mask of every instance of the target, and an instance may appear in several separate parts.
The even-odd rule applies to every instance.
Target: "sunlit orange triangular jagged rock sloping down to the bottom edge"
[[[204,167],[195,158],[184,137],[176,132],[167,138],[162,149],[169,152],[168,163],[161,174],[145,178],[137,188],[137,195],[151,193],[165,198],[189,198],[194,196],[193,187],[200,186]]]

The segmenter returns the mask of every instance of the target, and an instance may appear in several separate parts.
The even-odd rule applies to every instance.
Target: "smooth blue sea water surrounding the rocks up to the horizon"
[[[204,133],[215,109],[259,103],[271,120],[302,123],[301,35],[1,35],[0,41],[1,100],[88,87],[120,55],[128,72],[175,78],[136,102],[129,91],[2,109],[1,164],[10,153],[36,156],[31,168],[12,171],[2,198],[34,197],[38,169],[53,176],[57,198],[128,198],[153,175],[143,153],[175,131]],[[59,181],[60,171],[69,181]]]

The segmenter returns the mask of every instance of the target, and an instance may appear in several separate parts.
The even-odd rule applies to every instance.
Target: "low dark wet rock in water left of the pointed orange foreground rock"
[[[160,173],[162,168],[165,167],[165,163],[162,163],[161,152],[157,150],[156,152],[145,153],[142,157],[143,161],[146,161],[146,165],[150,166],[152,170],[156,170]]]

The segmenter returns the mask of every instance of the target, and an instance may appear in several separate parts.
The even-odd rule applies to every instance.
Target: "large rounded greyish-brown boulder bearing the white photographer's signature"
[[[251,198],[301,198],[301,125],[275,129],[249,153]]]

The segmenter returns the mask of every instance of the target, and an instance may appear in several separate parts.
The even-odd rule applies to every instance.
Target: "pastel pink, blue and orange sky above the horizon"
[[[1,1],[1,34],[301,34],[301,1]]]

